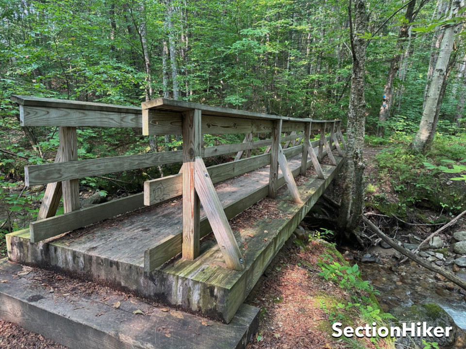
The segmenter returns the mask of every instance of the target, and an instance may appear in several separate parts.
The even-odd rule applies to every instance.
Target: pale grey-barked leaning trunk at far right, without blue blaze
[[[454,14],[460,8],[462,2],[454,0],[450,9],[449,18],[454,17]],[[431,86],[427,94],[426,105],[422,111],[422,118],[419,124],[419,130],[417,131],[416,137],[413,143],[410,144],[410,148],[416,152],[425,152],[432,141],[431,134],[435,130],[436,120],[435,114],[439,100],[441,101],[442,85],[446,78],[448,71],[448,64],[453,50],[455,35],[458,33],[458,25],[449,25],[443,33],[442,42],[440,43],[440,52],[435,64],[435,70],[433,72]],[[444,90],[443,90],[444,92]]]

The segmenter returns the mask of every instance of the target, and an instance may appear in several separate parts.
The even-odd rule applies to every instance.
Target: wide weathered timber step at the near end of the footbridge
[[[0,280],[0,318],[69,349],[241,349],[259,326],[259,309],[251,305],[227,325],[6,258]]]

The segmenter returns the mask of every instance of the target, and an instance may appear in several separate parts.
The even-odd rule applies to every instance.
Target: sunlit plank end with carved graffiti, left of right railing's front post
[[[150,206],[183,194],[183,175],[153,179],[144,182],[144,205]]]

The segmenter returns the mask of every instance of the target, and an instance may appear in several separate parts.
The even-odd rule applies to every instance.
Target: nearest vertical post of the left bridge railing
[[[61,161],[78,160],[78,136],[76,127],[59,127],[59,151]],[[62,181],[63,209],[65,213],[81,208],[79,201],[79,179]]]

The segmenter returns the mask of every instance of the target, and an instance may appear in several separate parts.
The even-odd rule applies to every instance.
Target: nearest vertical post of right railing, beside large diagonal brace
[[[199,256],[200,202],[194,186],[195,158],[202,143],[201,111],[183,113],[183,258]]]

